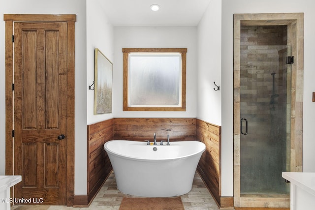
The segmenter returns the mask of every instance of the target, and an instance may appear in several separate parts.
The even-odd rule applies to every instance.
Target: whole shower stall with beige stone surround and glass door
[[[234,14],[234,207],[290,207],[282,172],[302,171],[303,18]]]

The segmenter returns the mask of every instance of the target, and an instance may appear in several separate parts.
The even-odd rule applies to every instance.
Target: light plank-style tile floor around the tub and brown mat
[[[98,191],[90,207],[73,208],[48,205],[16,205],[11,210],[119,210],[123,197],[132,197],[116,188],[115,175],[112,172]],[[196,172],[189,193],[181,196],[185,210],[219,210],[204,182]]]

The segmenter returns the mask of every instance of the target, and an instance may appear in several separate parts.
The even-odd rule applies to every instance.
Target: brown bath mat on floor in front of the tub
[[[128,198],[124,197],[119,210],[184,210],[181,197]]]

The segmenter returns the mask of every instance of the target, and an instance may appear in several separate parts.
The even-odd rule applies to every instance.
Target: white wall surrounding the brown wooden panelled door
[[[75,6],[74,6],[75,5]],[[75,194],[86,194],[86,0],[0,1],[0,14],[76,14],[75,23]],[[1,18],[1,19],[2,19]],[[3,19],[2,19],[3,20]],[[0,175],[5,174],[5,22],[0,21]],[[81,168],[81,166],[84,166]]]

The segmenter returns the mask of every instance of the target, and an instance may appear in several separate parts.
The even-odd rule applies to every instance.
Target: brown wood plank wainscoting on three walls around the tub
[[[112,170],[105,142],[201,141],[206,145],[197,170],[221,208],[233,208],[233,197],[221,196],[221,126],[195,118],[115,118],[88,125],[88,194],[74,196],[75,206],[88,206]]]

